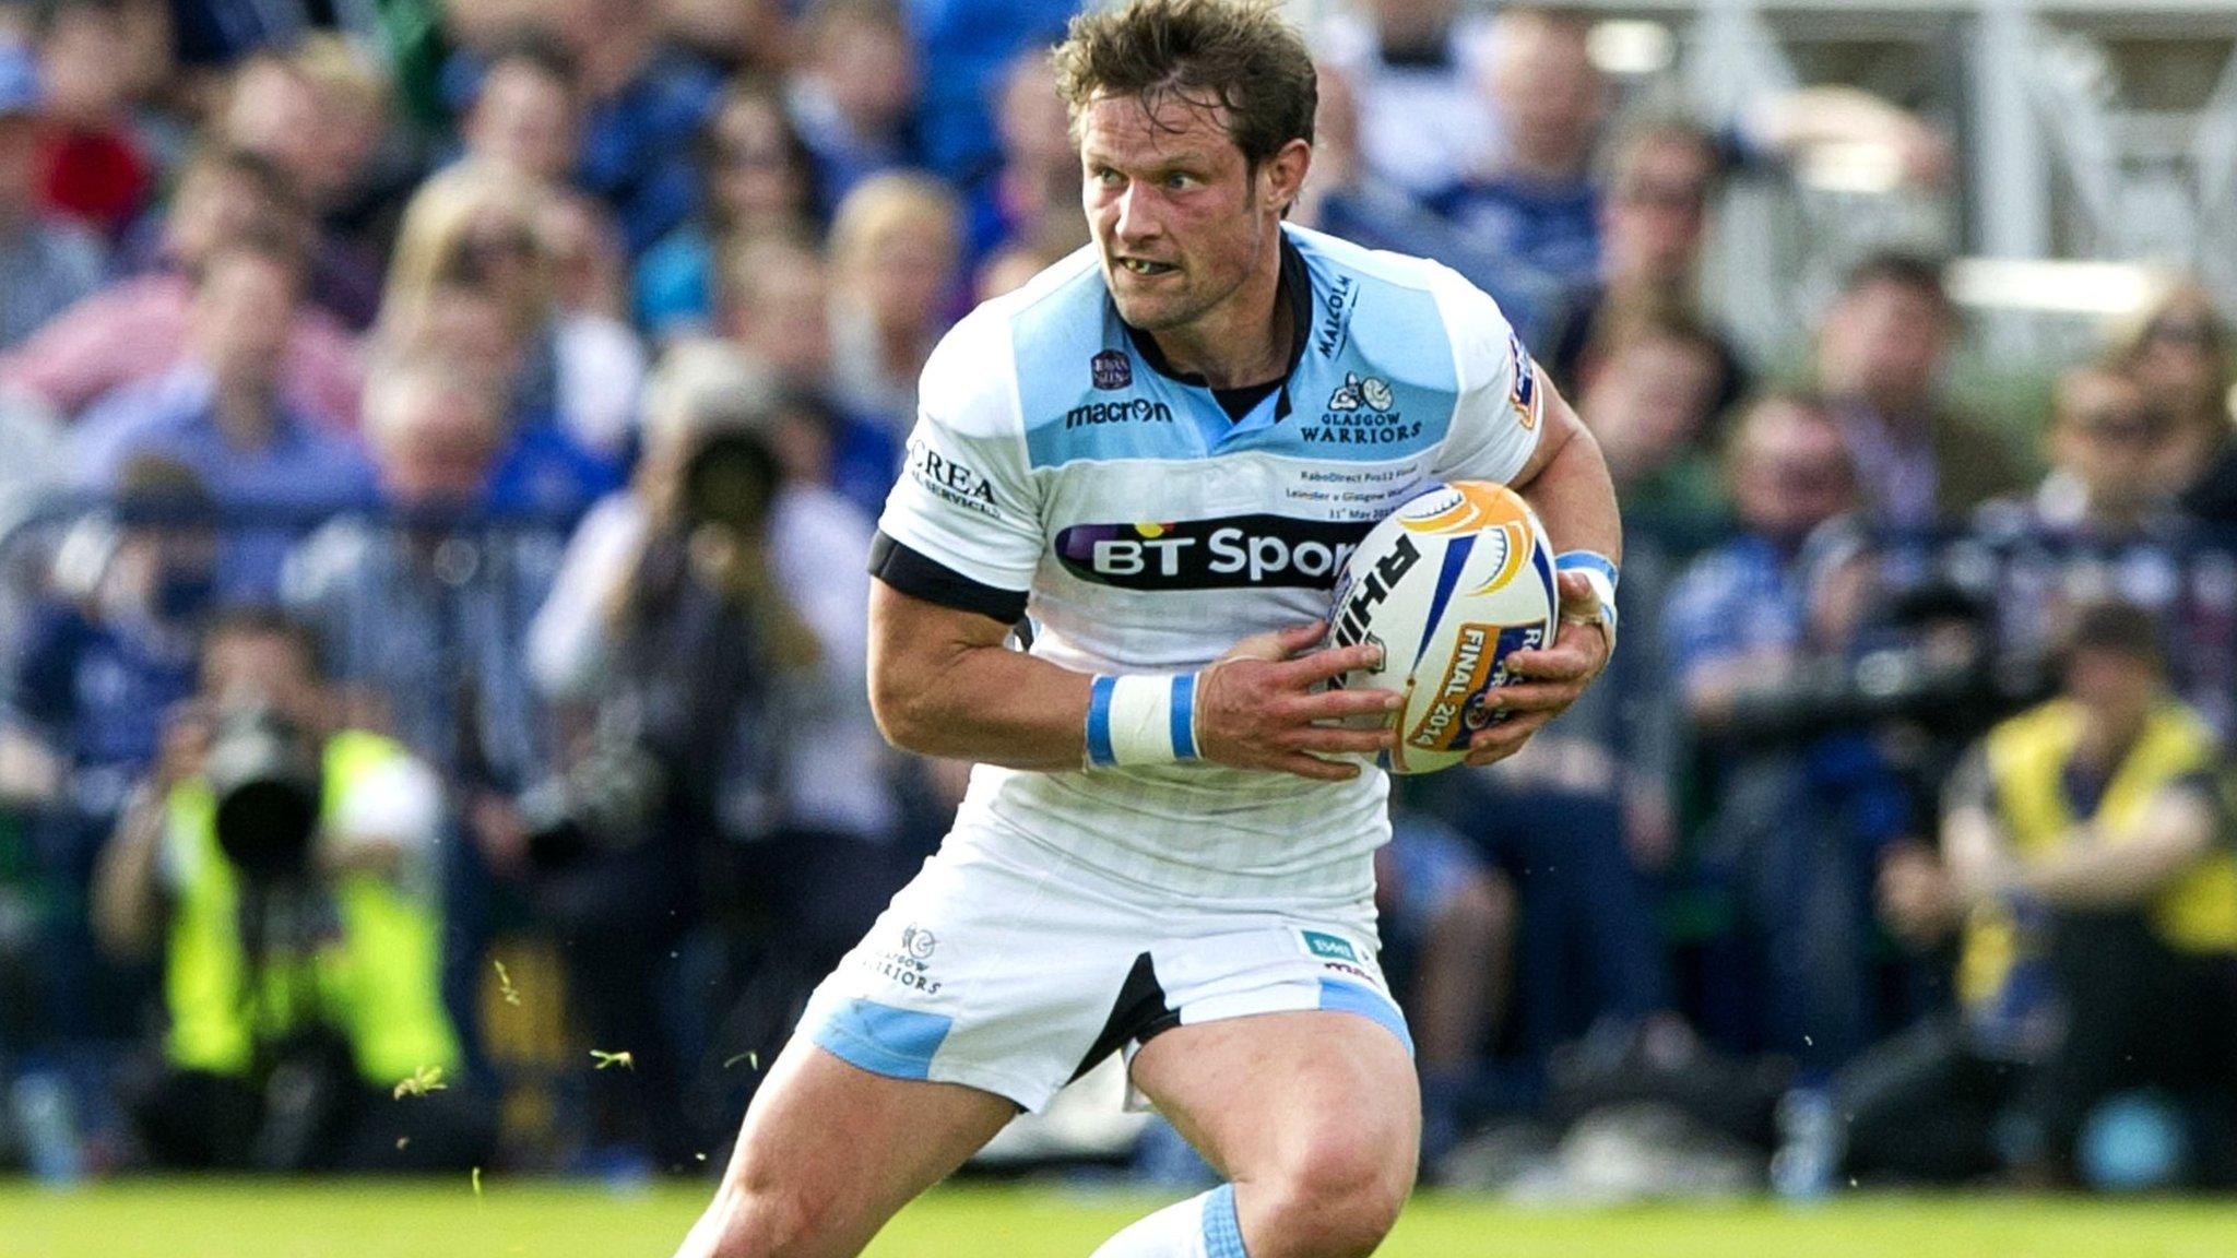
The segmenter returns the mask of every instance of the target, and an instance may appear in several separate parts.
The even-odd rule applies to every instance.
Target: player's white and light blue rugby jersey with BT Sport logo
[[[1069,669],[1190,672],[1327,616],[1344,555],[1423,484],[1512,479],[1539,385],[1492,298],[1436,262],[1282,231],[1293,367],[1242,419],[1161,369],[1094,246],[955,325],[924,367],[875,571],[951,607],[1022,607],[1031,651]],[[980,766],[948,842],[1038,844],[1152,895],[1356,904],[1387,790],[1380,770]]]

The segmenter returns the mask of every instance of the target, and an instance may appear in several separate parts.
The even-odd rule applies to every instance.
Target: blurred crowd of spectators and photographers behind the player
[[[0,4],[0,1164],[720,1164],[960,792],[863,555],[931,347],[1087,242],[1072,9]],[[1951,139],[1591,31],[1315,9],[1297,219],[1494,293],[1631,535],[1586,701],[1394,792],[1429,1173],[2237,1184],[2215,295],[2024,423],[1922,253],[1752,356],[1727,186]]]

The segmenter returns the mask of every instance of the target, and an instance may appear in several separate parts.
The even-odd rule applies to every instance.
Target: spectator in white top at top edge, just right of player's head
[[[1318,47],[1358,94],[1369,177],[1427,197],[1492,161],[1499,123],[1476,81],[1494,43],[1459,0],[1362,0],[1331,16]]]

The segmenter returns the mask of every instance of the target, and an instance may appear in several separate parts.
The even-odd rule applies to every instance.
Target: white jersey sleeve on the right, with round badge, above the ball
[[[1514,327],[1483,289],[1434,266],[1429,291],[1452,338],[1459,396],[1438,450],[1436,475],[1510,484],[1537,452],[1546,428],[1546,381]]]

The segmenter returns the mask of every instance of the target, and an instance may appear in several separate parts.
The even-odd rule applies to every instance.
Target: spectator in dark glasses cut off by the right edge
[[[2107,363],[2143,403],[2174,416],[2165,468],[2190,515],[2237,524],[2237,441],[2230,439],[2230,329],[2197,280],[2168,287],[2114,338]]]

